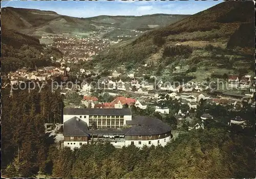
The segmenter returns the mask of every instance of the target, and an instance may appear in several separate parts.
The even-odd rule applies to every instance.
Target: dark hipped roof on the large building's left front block
[[[63,136],[89,136],[88,125],[78,117],[72,117],[63,124]]]

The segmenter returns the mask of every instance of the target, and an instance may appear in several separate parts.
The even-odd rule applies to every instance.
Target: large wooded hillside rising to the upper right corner
[[[122,64],[133,64],[133,67],[136,67],[146,63],[154,65],[154,68],[159,68],[163,60],[171,64],[179,59],[189,58],[190,60],[203,55],[204,47],[208,44],[224,50],[226,47],[234,49],[233,54],[236,54],[237,47],[253,48],[253,38],[250,37],[255,32],[252,25],[249,25],[254,24],[253,17],[252,2],[223,2],[166,27],[144,33],[129,43],[113,46],[97,56],[96,62],[103,63],[108,67]],[[246,33],[248,31],[249,33]],[[160,41],[161,43],[159,43]],[[194,49],[193,54],[184,57],[180,53],[176,55],[177,59],[172,56],[164,56],[163,52],[166,48],[177,44],[189,45]],[[253,52],[250,51],[250,54]],[[205,57],[202,58],[202,61],[205,61]],[[207,61],[214,63],[215,58],[207,59]],[[161,66],[164,67],[163,64]]]

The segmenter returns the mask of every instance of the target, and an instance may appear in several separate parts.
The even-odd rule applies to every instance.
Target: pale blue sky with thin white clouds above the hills
[[[73,17],[98,15],[196,14],[223,1],[1,1],[1,7],[55,11]]]

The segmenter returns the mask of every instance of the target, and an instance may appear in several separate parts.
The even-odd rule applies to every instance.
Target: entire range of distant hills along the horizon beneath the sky
[[[177,22],[188,15],[153,14],[144,16],[107,16],[78,18],[59,15],[53,11],[6,7],[1,10],[2,26],[20,33],[41,36],[46,34],[71,34],[99,29],[119,28],[149,30]],[[148,26],[149,25],[149,26]]]

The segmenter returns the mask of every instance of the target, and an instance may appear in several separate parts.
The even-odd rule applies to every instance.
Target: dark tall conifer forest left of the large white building
[[[21,86],[20,88],[24,88]],[[48,150],[54,136],[45,133],[45,123],[60,123],[62,99],[48,88],[32,90],[1,89],[2,173],[33,176],[45,171]],[[12,173],[14,172],[14,173]]]

